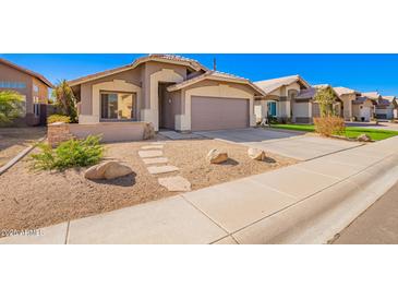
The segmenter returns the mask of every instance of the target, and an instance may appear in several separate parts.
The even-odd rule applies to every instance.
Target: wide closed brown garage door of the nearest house
[[[249,127],[249,99],[245,98],[192,96],[191,109],[192,131]]]

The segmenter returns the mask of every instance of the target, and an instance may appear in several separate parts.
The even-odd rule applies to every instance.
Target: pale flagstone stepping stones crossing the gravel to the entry
[[[169,162],[168,158],[162,157],[164,152],[161,150],[164,148],[164,145],[166,145],[165,142],[152,142],[150,145],[142,146],[142,151],[138,151],[138,156],[143,162],[146,165],[150,165],[147,166],[150,175],[168,174],[179,170],[178,167],[172,165],[153,166],[154,164],[165,164]],[[169,191],[177,192],[191,190],[191,183],[181,176],[158,178],[158,182]]]

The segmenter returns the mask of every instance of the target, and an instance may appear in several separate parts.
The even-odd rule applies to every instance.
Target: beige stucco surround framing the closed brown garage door
[[[226,97],[226,98],[246,98],[249,103],[249,120],[250,125],[255,125],[254,115],[254,91],[241,84],[226,84],[217,81],[203,81],[201,83],[189,86],[182,89],[181,94],[181,115],[176,115],[176,130],[191,130],[191,97],[192,96],[209,96],[209,97]]]

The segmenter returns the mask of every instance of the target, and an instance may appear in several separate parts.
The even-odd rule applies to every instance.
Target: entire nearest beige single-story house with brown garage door
[[[80,123],[145,121],[155,131],[253,127],[254,101],[265,96],[246,79],[173,55],[149,55],[69,84]]]

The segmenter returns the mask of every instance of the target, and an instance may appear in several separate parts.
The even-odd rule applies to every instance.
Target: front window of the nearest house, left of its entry
[[[101,93],[101,119],[135,120],[136,96],[130,93]]]

